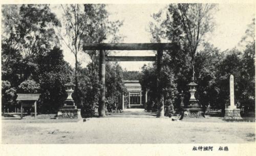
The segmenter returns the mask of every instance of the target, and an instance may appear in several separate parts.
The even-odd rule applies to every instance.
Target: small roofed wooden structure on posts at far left
[[[35,118],[36,118],[36,102],[39,100],[40,94],[17,94],[16,101],[20,101],[20,119],[23,118],[23,107],[33,107],[35,108]]]

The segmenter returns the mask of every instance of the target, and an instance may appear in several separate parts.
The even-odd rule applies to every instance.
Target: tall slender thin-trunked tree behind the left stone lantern
[[[69,4],[61,5],[66,34],[62,40],[75,56],[75,101],[77,102],[78,93],[78,53],[81,50],[82,38],[87,35],[87,28],[91,24],[91,17],[94,13],[91,5]],[[67,40],[66,40],[66,38]]]

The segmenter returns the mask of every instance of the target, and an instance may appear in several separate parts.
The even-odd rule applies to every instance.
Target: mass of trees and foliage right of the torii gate
[[[204,7],[210,7],[209,12],[204,13],[201,10]],[[232,74],[234,75],[236,104],[247,111],[254,110],[255,40],[253,32],[255,20],[253,19],[252,24],[248,26],[245,36],[242,38],[241,45],[245,45],[245,50],[234,48],[221,52],[218,48],[203,40],[203,35],[211,31],[214,26],[211,16],[207,16],[211,10],[214,11],[215,6],[169,5],[165,17],[163,17],[162,11],[153,15],[150,26],[152,41],[168,40],[179,45],[176,49],[165,51],[163,65],[172,69],[172,80],[176,84],[173,87],[176,88],[178,93],[184,91],[185,104],[188,104],[189,88],[187,84],[191,81],[192,76],[195,77],[192,80],[198,83],[196,98],[199,103],[203,107],[209,105],[211,108],[222,109],[224,113],[225,107],[229,104],[229,77]],[[199,18],[202,21],[200,23],[195,22]],[[197,38],[197,35],[194,36],[197,34],[194,33],[194,29],[198,30],[199,38]],[[197,48],[199,44],[202,47],[200,50]],[[154,68],[144,68],[141,80],[146,82],[143,83],[143,87],[149,88],[150,92],[153,92],[152,95],[156,92],[156,88],[151,84],[156,79],[155,74],[153,74]],[[163,81],[163,83],[165,82]],[[174,105],[178,106],[180,104],[179,94],[177,92],[170,93],[176,93],[172,96],[172,99],[175,101]]]

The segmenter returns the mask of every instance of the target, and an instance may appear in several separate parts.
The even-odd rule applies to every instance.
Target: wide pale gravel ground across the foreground
[[[53,122],[54,121],[54,122]],[[220,118],[172,121],[169,118],[91,118],[2,120],[4,144],[254,143],[255,122]]]

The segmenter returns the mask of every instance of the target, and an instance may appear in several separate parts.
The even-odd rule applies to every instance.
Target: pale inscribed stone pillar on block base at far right
[[[229,79],[229,93],[230,93],[230,105],[225,109],[225,120],[237,120],[242,119],[240,116],[240,109],[234,105],[234,76],[230,75]]]

